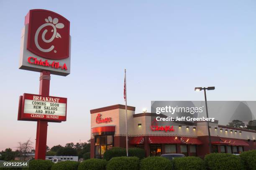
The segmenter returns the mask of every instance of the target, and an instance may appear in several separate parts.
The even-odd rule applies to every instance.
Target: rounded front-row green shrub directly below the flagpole
[[[112,158],[106,170],[139,170],[140,160],[138,157],[115,157]]]

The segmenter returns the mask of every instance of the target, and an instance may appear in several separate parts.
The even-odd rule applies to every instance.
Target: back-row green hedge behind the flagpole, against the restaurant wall
[[[128,154],[130,157],[136,156],[140,159],[145,158],[145,155],[146,155],[145,150],[140,149],[140,148],[129,148]],[[126,149],[119,148],[119,147],[113,147],[112,149],[107,150],[104,153],[103,158],[105,160],[110,160],[111,158],[121,157],[121,156],[126,156]]]

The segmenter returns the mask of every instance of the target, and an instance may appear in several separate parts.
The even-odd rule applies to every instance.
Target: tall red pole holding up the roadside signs
[[[49,96],[51,73],[49,71],[41,71],[40,73],[39,95]],[[47,120],[37,120],[36,128],[36,153],[35,159],[45,160],[46,156],[46,140],[47,140]]]

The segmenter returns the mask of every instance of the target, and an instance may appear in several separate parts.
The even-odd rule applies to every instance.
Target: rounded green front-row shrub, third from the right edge
[[[204,161],[195,156],[174,158],[174,170],[205,170]]]

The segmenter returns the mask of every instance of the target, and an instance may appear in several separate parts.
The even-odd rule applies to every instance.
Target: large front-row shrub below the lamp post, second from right
[[[211,153],[205,156],[208,170],[243,170],[239,156],[230,153]]]

